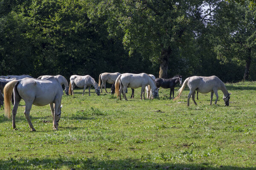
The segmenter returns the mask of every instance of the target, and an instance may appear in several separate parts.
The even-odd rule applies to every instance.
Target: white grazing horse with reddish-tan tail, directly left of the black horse
[[[120,88],[119,88],[120,85]],[[131,73],[124,73],[120,74],[116,79],[116,85],[115,85],[115,92],[117,94],[117,97],[119,96],[119,99],[121,100],[120,93],[123,92],[125,96],[125,91],[127,87],[130,88],[139,88],[141,87],[141,93],[140,93],[140,99],[142,100],[142,94],[145,90],[145,86],[150,85],[154,91],[152,91],[153,98],[158,96],[158,90],[156,83],[154,80],[148,76],[148,74],[141,73],[141,74],[131,74]],[[143,95],[143,98],[145,99],[145,95]],[[125,100],[127,100],[125,96]]]

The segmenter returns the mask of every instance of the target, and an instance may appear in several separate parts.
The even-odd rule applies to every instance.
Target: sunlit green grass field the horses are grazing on
[[[226,86],[229,107],[221,91],[217,105],[209,105],[209,93],[187,107],[188,88],[177,101],[163,88],[160,99],[142,101],[140,88],[129,101],[76,89],[62,97],[57,131],[47,105],[32,106],[31,132],[22,100],[17,130],[0,110],[0,169],[255,170],[256,82]]]

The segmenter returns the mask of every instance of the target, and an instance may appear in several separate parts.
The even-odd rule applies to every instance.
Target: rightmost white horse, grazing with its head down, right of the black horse
[[[230,99],[230,94],[227,91],[226,86],[224,85],[224,83],[216,76],[210,76],[210,77],[201,77],[201,76],[193,76],[193,77],[188,77],[186,78],[186,80],[184,81],[183,85],[181,86],[181,88],[178,90],[179,94],[178,96],[174,99],[177,100],[182,91],[184,90],[184,88],[186,87],[186,85],[188,85],[189,87],[189,95],[188,95],[188,103],[187,105],[189,106],[189,99],[192,95],[192,100],[194,101],[195,105],[195,90],[197,90],[199,93],[209,93],[211,92],[211,100],[210,100],[210,105],[212,105],[212,97],[213,97],[213,93],[216,95],[216,100],[215,100],[215,105],[218,101],[218,90],[220,89],[224,96],[223,96],[223,100],[225,102],[226,106],[229,106],[229,99]]]

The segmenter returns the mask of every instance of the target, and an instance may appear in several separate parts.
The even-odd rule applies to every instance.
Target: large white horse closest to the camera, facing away
[[[24,114],[29,123],[29,127],[32,131],[35,128],[29,117],[32,105],[44,106],[49,104],[52,116],[53,116],[53,129],[58,130],[58,122],[61,118],[61,97],[63,94],[61,84],[55,77],[49,77],[48,79],[32,79],[25,78],[20,80],[13,80],[6,84],[3,90],[4,93],[4,110],[5,116],[11,118],[11,104],[10,99],[12,93],[14,94],[14,106],[12,109],[12,128],[16,129],[15,116],[17,114],[17,108],[20,100],[25,101],[26,107]]]

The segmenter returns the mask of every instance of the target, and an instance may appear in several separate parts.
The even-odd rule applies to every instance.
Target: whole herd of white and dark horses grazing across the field
[[[32,131],[35,131],[35,128],[32,125],[32,122],[29,117],[30,110],[32,105],[44,106],[49,104],[53,117],[53,129],[58,129],[58,122],[61,118],[61,98],[63,95],[62,85],[64,85],[65,93],[67,95],[74,95],[73,89],[77,86],[79,88],[84,88],[82,95],[84,95],[85,89],[88,87],[89,96],[90,96],[90,86],[93,85],[95,88],[96,94],[99,96],[102,93],[102,88],[105,88],[106,93],[106,82],[113,84],[111,87],[111,94],[116,93],[121,99],[121,93],[127,100],[125,93],[127,88],[132,89],[131,98],[134,97],[134,88],[141,87],[140,99],[145,99],[145,89],[147,92],[147,98],[152,99],[158,97],[159,88],[170,88],[170,97],[173,96],[173,99],[176,100],[180,97],[182,91],[188,85],[189,95],[187,105],[189,106],[189,99],[192,96],[192,100],[195,105],[195,91],[199,93],[209,93],[211,92],[210,104],[212,104],[213,93],[216,95],[215,104],[218,101],[218,90],[220,89],[224,94],[225,105],[229,105],[230,94],[228,93],[224,83],[216,76],[211,77],[188,77],[181,88],[178,90],[179,94],[174,98],[174,88],[175,85],[180,82],[182,84],[182,76],[177,75],[170,79],[155,78],[152,74],[120,74],[116,73],[102,73],[99,75],[99,84],[89,75],[78,76],[72,75],[70,77],[70,85],[67,82],[67,79],[61,75],[57,76],[40,76],[37,79],[29,75],[9,75],[9,76],[0,76],[0,92],[3,92],[4,97],[0,95],[0,105],[3,105],[4,100],[4,110],[5,115],[8,118],[11,118],[11,101],[13,104],[12,109],[12,127],[16,129],[15,125],[15,116],[17,113],[17,108],[20,103],[20,100],[23,99],[25,102],[25,111],[24,114],[29,123],[29,127]]]

